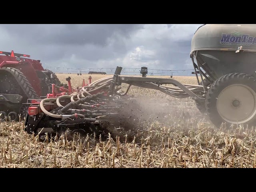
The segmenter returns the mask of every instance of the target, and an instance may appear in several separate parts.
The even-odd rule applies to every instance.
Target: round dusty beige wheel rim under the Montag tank
[[[246,85],[230,85],[218,96],[217,110],[227,122],[248,122],[256,114],[256,93]]]

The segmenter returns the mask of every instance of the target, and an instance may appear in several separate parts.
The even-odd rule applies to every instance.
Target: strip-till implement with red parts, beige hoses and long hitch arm
[[[142,78],[122,76],[122,67],[117,67],[114,76],[102,78],[81,88],[79,92],[62,96],[28,100],[30,104],[25,119],[28,134],[71,133],[108,135],[111,130],[118,130],[129,125],[136,127],[139,119],[133,118],[136,104],[133,96],[128,95],[130,86],[156,89],[177,98],[188,96],[202,99],[196,92],[202,92],[200,85],[181,84],[174,79]],[[122,83],[129,84],[126,92],[120,91]],[[175,86],[164,86],[173,84]],[[134,104],[134,108],[131,105]],[[126,106],[134,110],[126,110]]]

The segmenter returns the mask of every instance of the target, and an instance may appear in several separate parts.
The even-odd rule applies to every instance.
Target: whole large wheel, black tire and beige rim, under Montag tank
[[[241,73],[222,76],[208,90],[205,106],[217,128],[222,123],[253,126],[256,123],[256,78]]]

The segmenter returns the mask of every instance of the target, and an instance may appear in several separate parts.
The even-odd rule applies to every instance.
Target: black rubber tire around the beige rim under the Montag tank
[[[256,78],[249,76],[247,74],[241,73],[232,73],[226,74],[221,78],[218,78],[210,87],[206,94],[206,113],[209,116],[210,121],[217,127],[220,128],[222,123],[226,123],[230,125],[230,122],[224,120],[217,110],[217,100],[224,90],[224,88],[233,85],[233,84],[243,84],[251,88],[254,92],[256,92]],[[254,115],[250,120],[245,122],[244,124],[254,125],[256,121],[256,115]],[[230,127],[230,126],[226,126]]]

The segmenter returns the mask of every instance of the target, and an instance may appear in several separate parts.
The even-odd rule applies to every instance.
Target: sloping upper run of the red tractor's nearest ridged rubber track
[[[16,81],[20,85],[20,88],[22,88],[24,94],[27,96],[28,99],[39,99],[38,94],[36,94],[36,91],[31,86],[26,76],[24,76],[24,74],[20,70],[11,67],[3,67],[0,70],[5,70],[12,74],[12,76],[16,79]]]

